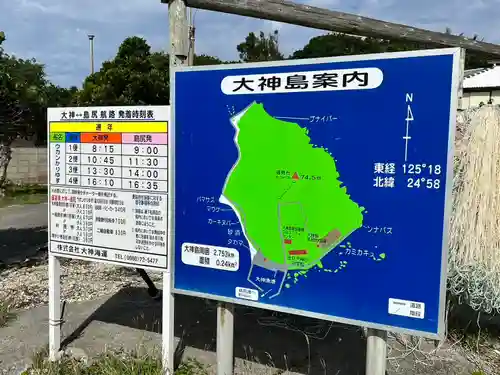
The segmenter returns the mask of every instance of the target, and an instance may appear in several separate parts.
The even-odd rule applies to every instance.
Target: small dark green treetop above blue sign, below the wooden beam
[[[284,56],[279,50],[278,30],[265,35],[260,32],[259,36],[250,33],[245,41],[236,47],[240,59],[243,62],[274,61],[283,60]]]

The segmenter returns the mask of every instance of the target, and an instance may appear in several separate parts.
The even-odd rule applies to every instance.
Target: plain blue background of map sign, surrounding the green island
[[[252,301],[237,298],[236,288],[256,289],[257,302],[270,309],[295,309],[309,316],[438,334],[451,147],[452,52],[176,72],[172,103],[175,290],[248,304]],[[383,72],[378,88],[245,95],[221,91],[222,80],[231,75],[369,67]],[[251,246],[242,225],[229,206],[218,202],[238,158],[230,119],[254,101],[262,103],[271,116],[307,128],[311,143],[333,155],[339,179],[351,199],[366,209],[363,227],[328,253],[321,265],[304,273],[272,272],[259,266],[251,270]],[[408,106],[411,139],[404,139]],[[382,166],[390,170],[391,165],[395,166],[394,174],[377,173],[377,168],[378,172]],[[423,172],[418,177],[409,173],[410,165],[420,165]],[[429,173],[436,172],[433,166],[439,166],[439,174]],[[393,177],[394,186],[384,177]],[[421,178],[430,180],[430,185]],[[181,259],[183,243],[235,248],[240,254],[239,269],[223,271],[185,264]],[[389,313],[389,299],[425,304],[423,318]]]

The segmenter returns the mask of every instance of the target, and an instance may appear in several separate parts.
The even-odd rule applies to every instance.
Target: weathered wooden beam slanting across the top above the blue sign
[[[437,46],[462,47],[469,51],[500,56],[500,45],[284,0],[186,0],[186,4],[198,9],[290,23],[314,29]]]

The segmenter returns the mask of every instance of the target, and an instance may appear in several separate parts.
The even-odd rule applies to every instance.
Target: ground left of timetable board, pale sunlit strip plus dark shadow
[[[0,208],[0,262],[11,264],[47,244],[47,204]]]

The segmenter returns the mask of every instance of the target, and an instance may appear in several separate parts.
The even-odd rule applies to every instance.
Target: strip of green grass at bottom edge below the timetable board
[[[22,375],[163,375],[161,360],[150,354],[107,352],[90,363],[70,357],[50,362],[47,354],[47,348],[35,354],[33,365]],[[189,359],[179,366],[175,375],[208,375],[208,372],[201,363]]]

